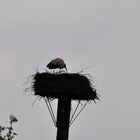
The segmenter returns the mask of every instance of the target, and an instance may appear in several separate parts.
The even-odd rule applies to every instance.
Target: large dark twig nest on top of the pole
[[[73,100],[99,99],[92,81],[78,73],[37,72],[33,75],[32,90],[35,95],[47,98]]]

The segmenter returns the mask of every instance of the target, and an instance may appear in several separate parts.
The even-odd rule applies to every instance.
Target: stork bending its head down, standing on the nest
[[[55,58],[55,59],[53,59],[52,61],[50,61],[50,63],[47,65],[47,67],[49,69],[57,69],[58,68],[59,69],[59,72],[63,68],[65,68],[66,71],[67,71],[66,64],[65,64],[64,60],[61,59],[61,58]]]

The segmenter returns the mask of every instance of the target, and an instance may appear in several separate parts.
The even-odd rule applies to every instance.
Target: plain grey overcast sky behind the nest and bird
[[[15,140],[55,140],[43,100],[23,94],[27,77],[61,57],[85,70],[101,102],[87,105],[70,140],[140,139],[140,1],[0,1],[0,124],[19,122]]]

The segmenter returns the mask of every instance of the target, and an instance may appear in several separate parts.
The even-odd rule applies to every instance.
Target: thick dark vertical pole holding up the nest
[[[68,140],[71,99],[59,98],[57,109],[57,137],[56,140]]]

